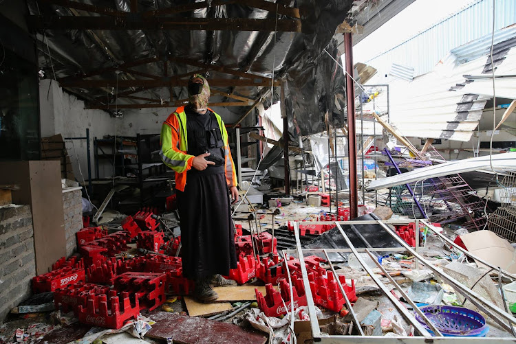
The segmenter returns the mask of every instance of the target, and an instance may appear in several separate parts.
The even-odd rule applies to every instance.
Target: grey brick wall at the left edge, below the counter
[[[0,322],[30,295],[36,275],[30,205],[0,208]]]

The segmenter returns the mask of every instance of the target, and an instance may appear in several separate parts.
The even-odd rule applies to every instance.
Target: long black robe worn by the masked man
[[[218,126],[208,113],[200,115],[186,111],[189,138],[188,154],[198,155],[195,130]],[[200,131],[197,131],[199,133]],[[194,168],[186,172],[184,192],[178,194],[181,225],[183,275],[201,279],[214,274],[228,275],[237,267],[233,220],[224,165],[208,165],[204,171]]]

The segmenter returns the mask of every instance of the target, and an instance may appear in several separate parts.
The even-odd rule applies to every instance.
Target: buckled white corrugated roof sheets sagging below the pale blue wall
[[[516,27],[495,32],[495,76],[516,74],[515,46]],[[430,73],[411,82],[389,82],[391,124],[405,137],[469,141],[486,101],[493,98],[493,82],[489,78],[470,80],[465,76],[491,75],[490,50],[491,40],[481,38],[453,49]],[[375,89],[365,88],[368,92]],[[384,91],[375,98],[375,104],[363,104],[363,111],[385,115],[385,87],[376,89]],[[516,79],[497,78],[495,90],[497,97],[516,99]]]

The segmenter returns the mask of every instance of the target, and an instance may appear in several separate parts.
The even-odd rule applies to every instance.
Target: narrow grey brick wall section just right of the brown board
[[[83,228],[83,198],[80,190],[63,193],[63,210],[65,213],[66,256],[69,257],[77,248],[75,233]]]

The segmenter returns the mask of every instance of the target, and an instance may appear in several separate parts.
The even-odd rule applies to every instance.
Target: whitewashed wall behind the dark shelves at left
[[[94,137],[101,139],[104,135],[113,135],[115,133],[115,121],[105,111],[85,109],[85,104],[82,100],[63,92],[63,89],[55,81],[52,80],[52,84],[50,84],[50,81],[50,79],[45,79],[39,83],[41,137],[56,134],[63,135],[63,138],[85,137],[86,128],[89,128],[92,178],[95,178]],[[74,153],[77,154],[80,161],[80,170],[83,172],[84,178],[87,179],[86,140],[75,140],[73,145],[71,142],[67,142],[66,148],[72,160],[76,178],[82,182]],[[111,171],[111,166],[100,165],[100,176],[110,176],[112,174]]]

